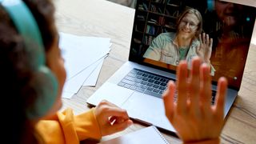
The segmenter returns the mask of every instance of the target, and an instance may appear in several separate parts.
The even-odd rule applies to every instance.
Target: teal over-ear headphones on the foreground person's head
[[[32,67],[35,74],[29,84],[37,98],[27,107],[26,116],[30,119],[40,118],[50,110],[56,101],[58,81],[46,66],[41,33],[29,8],[22,0],[0,0],[0,3],[24,39],[26,54],[30,57],[28,65]]]

